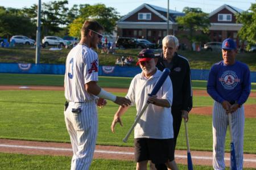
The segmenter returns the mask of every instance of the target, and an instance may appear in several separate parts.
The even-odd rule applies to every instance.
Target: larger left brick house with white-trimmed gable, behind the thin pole
[[[169,10],[169,33],[177,31],[176,16],[183,12]],[[117,35],[120,37],[137,37],[157,42],[167,35],[167,9],[142,4],[129,12],[117,22]]]

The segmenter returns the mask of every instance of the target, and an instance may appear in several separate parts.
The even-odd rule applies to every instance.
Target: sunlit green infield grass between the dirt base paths
[[[124,93],[115,93],[124,96]],[[210,97],[194,98],[194,106],[212,105]],[[69,142],[65,128],[63,105],[63,91],[0,91],[0,138],[26,139],[35,141]],[[249,99],[248,103],[256,103]],[[133,146],[133,135],[128,143],[123,143],[122,138],[129,130],[135,117],[135,107],[131,107],[122,117],[123,127],[117,126],[115,134],[110,131],[113,115],[118,106],[108,102],[108,105],[98,109],[99,131],[97,144]],[[212,150],[212,117],[191,114],[189,117],[189,139],[191,150]],[[245,146],[247,153],[256,153],[256,118],[246,118],[245,121]],[[200,133],[199,133],[200,131]],[[204,139],[204,140],[202,140]],[[247,140],[246,140],[247,139]],[[226,140],[229,141],[229,135]],[[226,143],[226,148],[228,147]],[[182,124],[177,142],[178,149],[185,149],[184,127]],[[227,149],[228,151],[228,149]]]

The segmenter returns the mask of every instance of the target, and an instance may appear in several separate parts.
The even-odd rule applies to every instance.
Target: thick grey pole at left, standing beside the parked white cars
[[[41,41],[41,0],[38,0],[38,23],[36,24],[36,58],[35,62],[40,63],[40,41]]]

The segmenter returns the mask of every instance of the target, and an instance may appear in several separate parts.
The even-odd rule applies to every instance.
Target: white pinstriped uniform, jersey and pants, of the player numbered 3
[[[98,56],[86,45],[69,52],[65,71],[65,124],[73,149],[72,170],[89,169],[96,146],[98,117],[96,97],[85,91],[85,83],[98,81]]]

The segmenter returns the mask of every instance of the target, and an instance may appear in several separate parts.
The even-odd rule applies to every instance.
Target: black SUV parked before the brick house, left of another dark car
[[[118,48],[137,48],[138,40],[131,37],[118,37],[115,46]]]

